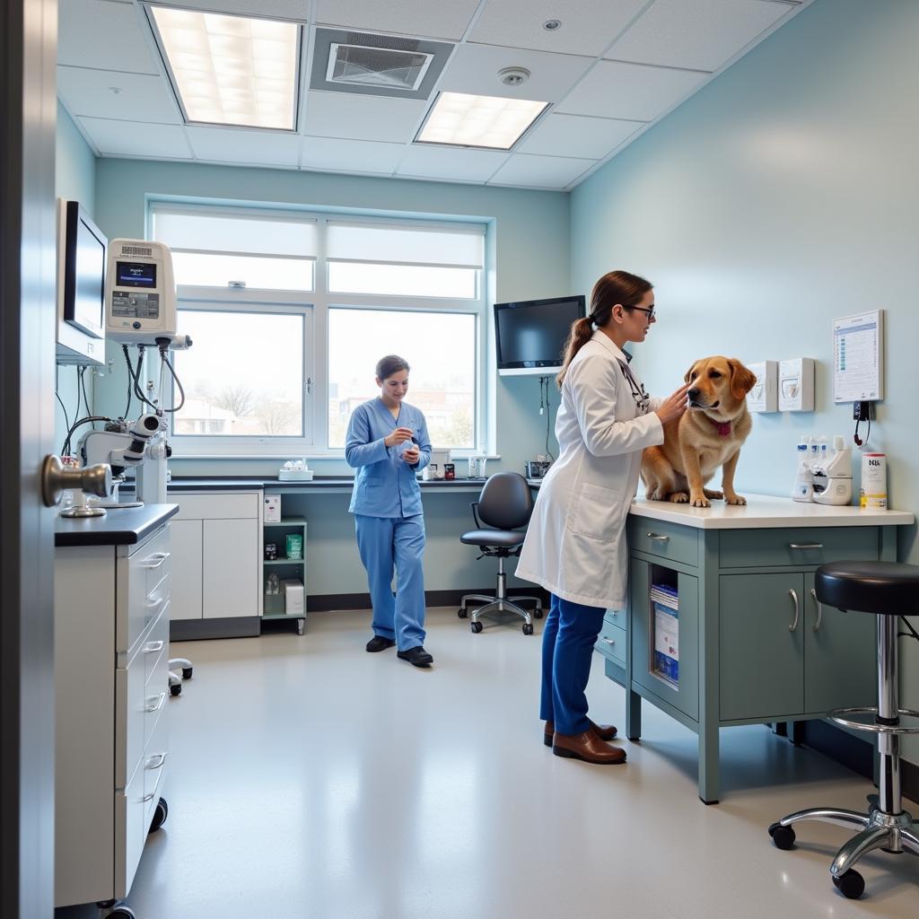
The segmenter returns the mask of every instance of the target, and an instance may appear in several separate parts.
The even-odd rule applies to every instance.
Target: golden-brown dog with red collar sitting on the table
[[[753,426],[746,394],[756,382],[754,373],[735,357],[703,357],[686,371],[689,407],[664,425],[664,443],[646,448],[641,456],[641,479],[652,501],[686,501],[710,507],[709,498],[729,505],[745,505],[734,491],[734,470],[743,441]],[[721,467],[721,491],[705,483]]]

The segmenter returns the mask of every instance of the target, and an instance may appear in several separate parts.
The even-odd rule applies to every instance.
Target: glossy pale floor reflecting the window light
[[[472,635],[431,610],[421,671],[364,652],[368,622],[314,613],[302,638],[173,645],[195,677],[169,706],[170,812],[131,891],[139,919],[919,914],[917,858],[866,858],[854,902],[828,872],[845,830],[771,844],[789,811],[862,810],[868,782],[822,755],[723,731],[722,801],[706,807],[695,735],[649,706],[626,766],[542,745],[541,623]],[[588,693],[595,720],[623,725],[598,658]]]

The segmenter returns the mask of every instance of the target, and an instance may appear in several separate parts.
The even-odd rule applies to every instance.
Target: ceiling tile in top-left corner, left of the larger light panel
[[[58,63],[131,74],[160,73],[150,27],[137,6],[66,0],[59,12]]]

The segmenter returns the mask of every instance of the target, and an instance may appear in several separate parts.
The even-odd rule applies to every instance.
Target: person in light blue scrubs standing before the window
[[[425,651],[425,518],[415,473],[431,461],[425,415],[403,402],[408,362],[397,355],[377,364],[380,397],[358,405],[348,422],[347,464],[357,469],[348,510],[373,602],[369,652],[397,645],[403,660],[429,667]],[[392,593],[395,570],[396,591]]]

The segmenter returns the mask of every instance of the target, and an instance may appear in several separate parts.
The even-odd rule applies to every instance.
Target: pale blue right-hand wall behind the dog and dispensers
[[[831,321],[881,308],[887,389],[868,448],[888,454],[891,505],[919,512],[917,36],[919,4],[818,0],[573,191],[573,286],[612,267],[655,284],[660,317],[635,349],[650,391],[709,354],[817,360],[815,412],[754,418],[742,493],[789,494],[801,432],[852,444]],[[900,529],[902,561],[919,562],[915,535]],[[919,647],[902,645],[916,708]]]

